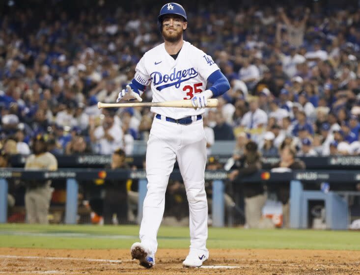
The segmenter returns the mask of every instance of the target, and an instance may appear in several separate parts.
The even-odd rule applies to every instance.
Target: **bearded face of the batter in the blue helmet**
[[[164,39],[168,42],[176,42],[182,39],[184,30],[188,23],[178,15],[165,15],[163,18]]]

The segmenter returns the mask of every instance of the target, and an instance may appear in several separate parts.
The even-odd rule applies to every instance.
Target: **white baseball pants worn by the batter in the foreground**
[[[154,118],[146,151],[147,193],[140,225],[141,244],[155,254],[165,209],[165,192],[177,159],[190,212],[190,249],[207,251],[208,206],[204,186],[206,140],[202,120],[180,125]]]

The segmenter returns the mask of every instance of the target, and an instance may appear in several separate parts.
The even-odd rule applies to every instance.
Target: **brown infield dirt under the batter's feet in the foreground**
[[[216,269],[182,268],[187,252],[159,249],[155,267],[146,270],[128,249],[0,248],[0,274],[360,275],[360,251],[211,249],[205,266]]]

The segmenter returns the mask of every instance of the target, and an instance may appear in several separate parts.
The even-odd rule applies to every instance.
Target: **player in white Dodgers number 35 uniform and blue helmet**
[[[158,27],[165,43],[145,53],[136,74],[120,100],[140,98],[151,84],[153,101],[191,99],[194,109],[152,107],[155,113],[147,142],[147,193],[140,225],[141,243],[131,247],[133,259],[151,268],[158,247],[157,233],[164,214],[165,191],[175,160],[184,180],[190,210],[191,246],[183,262],[185,267],[199,267],[209,258],[206,248],[207,200],[204,188],[206,140],[202,113],[211,97],[230,88],[227,79],[211,56],[183,40],[188,19],[177,3],[165,4],[158,17]],[[207,83],[212,83],[206,89]]]

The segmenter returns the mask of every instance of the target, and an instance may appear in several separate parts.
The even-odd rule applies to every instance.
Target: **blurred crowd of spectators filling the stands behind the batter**
[[[16,10],[0,18],[0,141],[28,155],[46,137],[55,155],[133,152],[146,141],[148,108],[98,110],[130,83],[141,56],[162,43],[157,9],[147,14],[90,9],[78,16]],[[316,3],[189,13],[185,39],[211,55],[231,84],[206,110],[214,140],[258,143],[276,156],[281,143],[299,156],[360,154],[360,10]],[[151,101],[151,90],[144,93]]]

